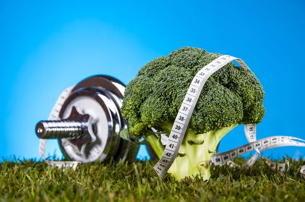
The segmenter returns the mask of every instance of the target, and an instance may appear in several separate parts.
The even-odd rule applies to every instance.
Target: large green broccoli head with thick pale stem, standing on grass
[[[131,135],[144,137],[161,158],[164,146],[148,128],[168,135],[195,74],[221,56],[184,47],[144,65],[125,90],[121,112]],[[178,156],[168,173],[177,180],[210,177],[209,160],[220,140],[239,124],[258,124],[265,114],[264,90],[256,76],[229,62],[206,81]]]

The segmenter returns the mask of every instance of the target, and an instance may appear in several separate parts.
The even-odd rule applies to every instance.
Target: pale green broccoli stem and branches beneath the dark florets
[[[218,143],[230,130],[239,124],[241,123],[235,123],[229,127],[212,130],[203,134],[195,134],[191,129],[187,129],[179,149],[179,153],[184,155],[178,155],[176,157],[168,173],[171,173],[177,180],[184,179],[188,176],[195,177],[196,175],[202,177],[203,180],[209,179],[209,161],[212,155],[216,154]],[[167,134],[170,134],[173,122],[165,121],[157,123],[157,125],[162,127]],[[164,146],[154,134],[147,133],[145,133],[145,138],[160,159],[164,152]]]

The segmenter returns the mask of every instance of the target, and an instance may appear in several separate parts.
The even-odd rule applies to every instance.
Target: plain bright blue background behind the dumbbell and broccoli
[[[65,88],[95,74],[127,84],[145,63],[183,46],[248,64],[266,92],[258,139],[304,138],[303,1],[65,2],[0,1],[0,156],[40,157],[35,124]],[[238,126],[220,151],[246,143]],[[56,141],[47,153],[61,156]],[[264,154],[297,158],[305,149]],[[147,157],[144,147],[138,157]]]

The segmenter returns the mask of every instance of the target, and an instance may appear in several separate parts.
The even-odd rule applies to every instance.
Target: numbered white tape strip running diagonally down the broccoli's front
[[[193,78],[188,92],[176,116],[165,150],[158,163],[154,166],[159,177],[163,178],[175,160],[184,139],[197,100],[207,79],[232,60],[236,60],[243,68],[249,67],[241,59],[222,55],[205,65]]]

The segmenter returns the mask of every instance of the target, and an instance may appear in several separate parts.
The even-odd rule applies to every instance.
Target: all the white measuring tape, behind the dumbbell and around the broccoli
[[[220,56],[217,59],[211,61],[207,65],[205,65],[193,78],[192,83],[188,89],[187,95],[185,96],[185,98],[182,102],[182,105],[178,111],[178,114],[176,116],[176,119],[175,119],[175,123],[179,124],[179,126],[181,128],[181,132],[175,131],[175,125],[173,126],[173,128],[170,132],[164,153],[163,153],[161,159],[158,161],[158,163],[154,166],[154,169],[157,172],[157,174],[159,175],[159,177],[163,178],[165,176],[165,174],[169,170],[170,166],[172,165],[173,161],[175,160],[175,158],[178,154],[178,151],[181,146],[182,140],[184,139],[190,118],[192,116],[192,113],[194,111],[197,100],[199,98],[199,95],[201,93],[201,90],[202,90],[205,82],[213,73],[215,73],[217,70],[221,69],[224,65],[226,65],[227,63],[229,63],[232,60],[236,60],[242,68],[249,69],[249,67],[246,65],[246,63],[243,62],[241,59],[232,57],[229,55],[223,55],[223,56]],[[69,87],[60,94],[55,106],[52,109],[52,112],[51,112],[48,120],[60,120],[60,118],[59,118],[60,108],[64,104],[65,100],[67,99],[67,97],[69,96],[69,94],[71,93],[73,88],[74,88],[74,86]],[[192,88],[195,89],[195,92],[192,90]],[[191,102],[189,102],[190,98],[192,98]],[[187,112],[185,112],[185,110],[184,110],[186,108],[189,109]],[[179,119],[180,116],[184,117],[184,121],[182,121],[182,123],[181,123],[181,120]],[[263,158],[263,160],[268,164],[268,166],[272,170],[275,170],[276,167],[278,167],[279,172],[285,172],[286,165],[288,166],[288,169],[289,169],[289,162],[287,160],[285,160],[285,163],[275,163],[275,162],[270,161],[268,158],[264,157],[263,155],[261,155],[260,152],[267,150],[267,149],[283,147],[283,146],[301,146],[301,147],[305,146],[305,143],[295,141],[295,140],[298,140],[298,141],[305,142],[304,140],[294,138],[294,137],[288,137],[288,136],[274,136],[274,137],[264,138],[264,139],[257,141],[256,140],[256,125],[245,124],[245,134],[246,134],[249,144],[243,145],[241,147],[238,147],[236,149],[233,149],[233,150],[230,150],[227,152],[217,153],[212,156],[211,163],[213,163],[215,165],[222,165],[222,164],[227,163],[227,164],[230,164],[231,166],[239,166],[239,165],[236,165],[231,160],[237,156],[240,156],[242,154],[255,150],[256,153],[243,166],[251,167],[257,160],[257,157],[260,156]],[[66,169],[67,167],[70,167],[73,170],[76,169],[78,163],[80,163],[79,161],[50,161],[50,160],[47,160],[45,158],[46,143],[47,143],[47,140],[45,140],[45,139],[40,140],[39,152],[40,152],[43,160],[48,165],[56,166],[56,167],[63,167],[64,169]],[[170,144],[172,144],[174,146],[174,148],[175,148],[174,150],[172,150],[172,145],[171,145],[171,147],[169,147]],[[168,156],[168,155],[166,155],[166,153],[170,153],[171,155]],[[164,160],[166,160],[166,162]],[[160,166],[160,164],[165,165],[165,166],[164,167]],[[300,172],[303,176],[305,175],[305,166],[301,167]]]

